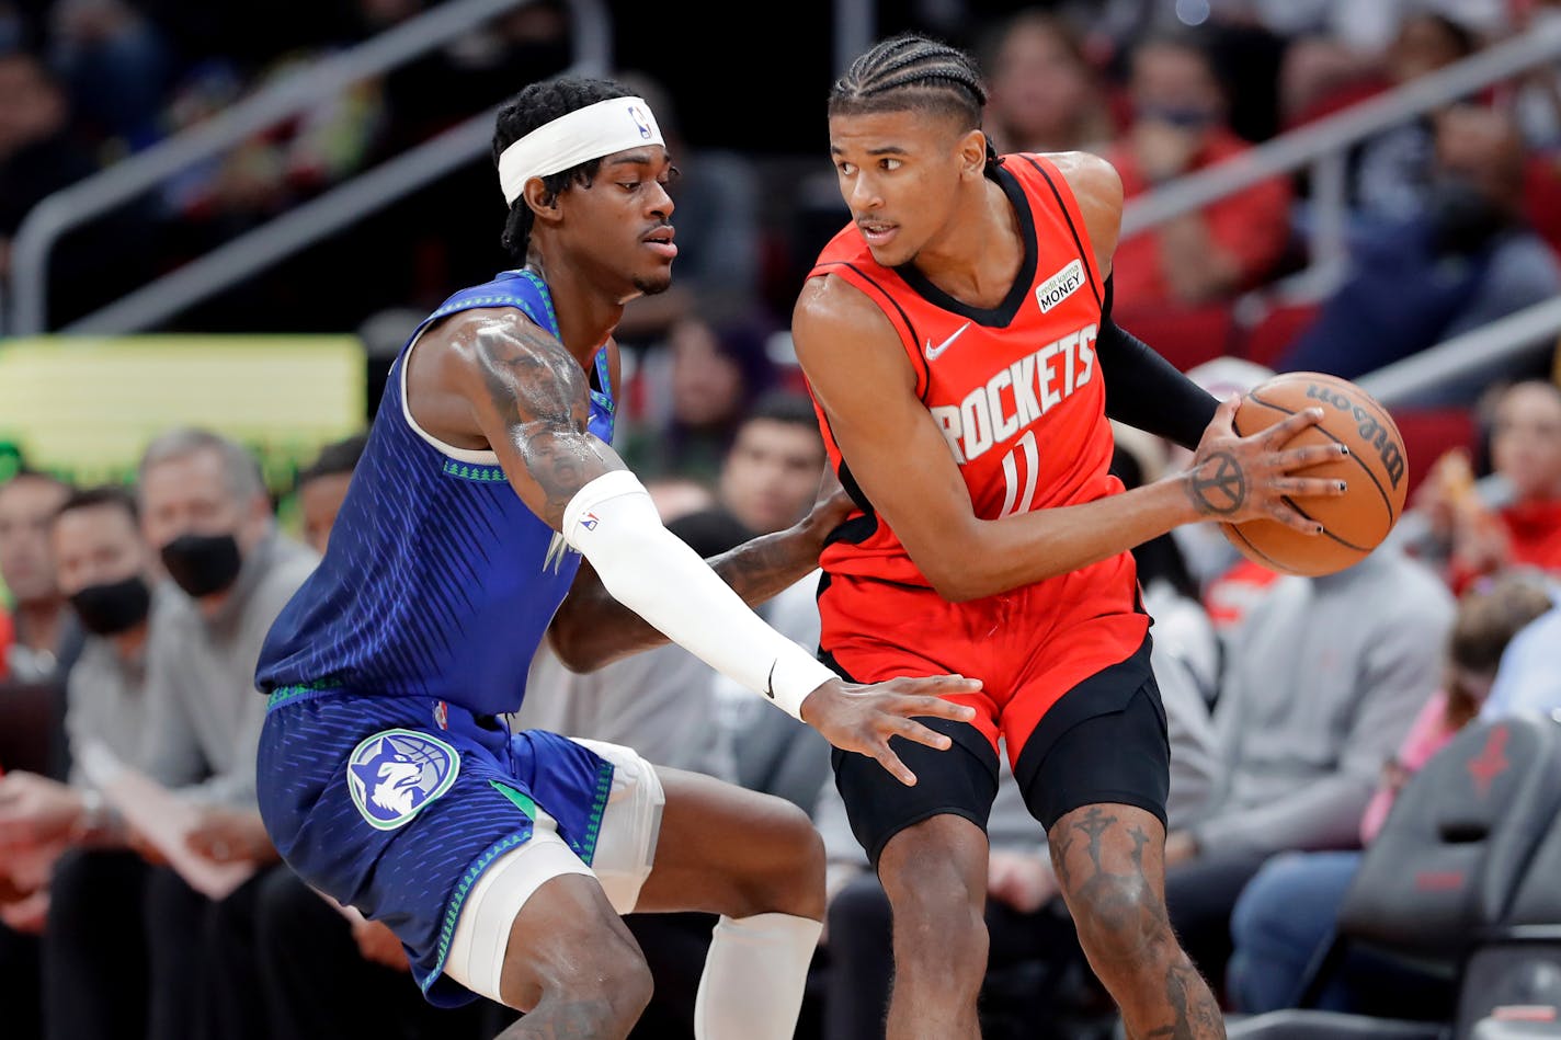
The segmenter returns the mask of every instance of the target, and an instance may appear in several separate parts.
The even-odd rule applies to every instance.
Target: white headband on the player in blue
[[[646,144],[665,144],[651,106],[638,97],[612,97],[559,116],[504,148],[498,156],[498,184],[504,201],[515,205],[532,176]]]

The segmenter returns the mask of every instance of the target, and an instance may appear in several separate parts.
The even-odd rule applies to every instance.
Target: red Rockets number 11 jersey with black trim
[[[916,394],[960,465],[976,515],[987,520],[1122,490],[1108,473],[1111,426],[1094,354],[1104,287],[1079,205],[1040,155],[1010,155],[993,175],[1024,237],[1024,264],[999,306],[960,303],[910,264],[879,265],[855,225],[824,247],[809,275],[845,278],[888,317],[916,372]],[[863,508],[841,529],[846,537],[824,550],[823,568],[930,587],[871,512],[816,400],[815,408],[829,461]]]

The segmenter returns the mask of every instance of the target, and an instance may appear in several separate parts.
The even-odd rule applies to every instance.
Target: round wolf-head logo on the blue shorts
[[[347,762],[347,787],[368,826],[393,831],[456,782],[460,756],[443,740],[411,729],[368,737]]]

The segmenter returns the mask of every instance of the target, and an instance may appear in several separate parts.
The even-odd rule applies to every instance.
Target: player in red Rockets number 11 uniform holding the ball
[[[894,912],[890,1040],[979,1035],[985,823],[997,740],[1046,828],[1090,963],[1129,1035],[1222,1037],[1166,918],[1169,748],[1130,548],[1197,520],[1319,528],[1338,495],[1288,448],[1321,412],[1252,437],[1111,322],[1122,189],[1082,153],[997,156],[971,59],[919,36],[859,58],[829,100],[852,222],[793,314],[830,461],[859,512],[821,559],[821,656],[854,681],[958,671],[962,751],[907,746],[918,784],[835,753],[851,823]],[[1107,417],[1196,448],[1124,492]]]

